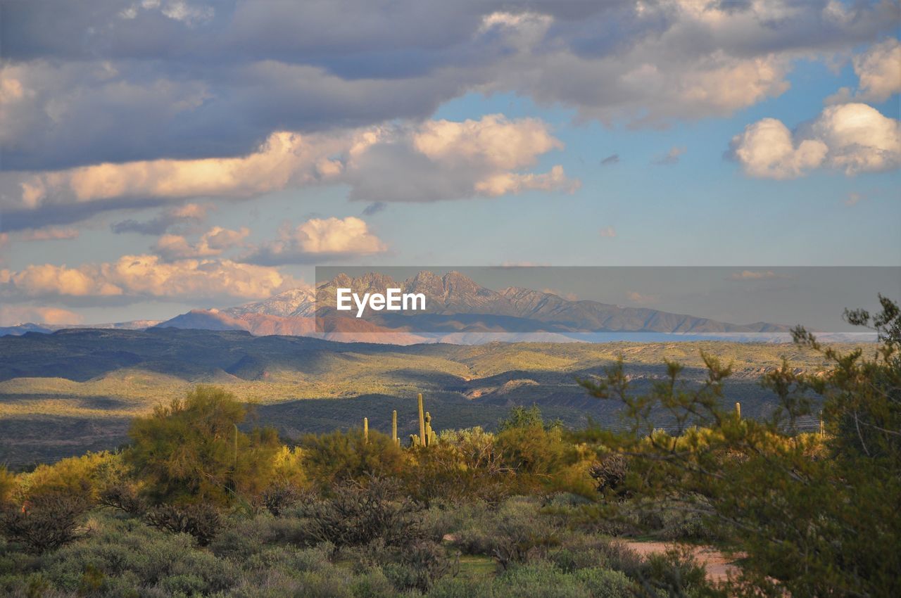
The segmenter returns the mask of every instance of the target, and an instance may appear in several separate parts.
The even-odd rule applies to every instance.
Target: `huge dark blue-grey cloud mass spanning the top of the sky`
[[[32,0],[0,11],[2,168],[27,170],[237,156],[272,131],[421,119],[472,91],[603,122],[727,114],[782,93],[793,59],[891,32],[897,3]]]

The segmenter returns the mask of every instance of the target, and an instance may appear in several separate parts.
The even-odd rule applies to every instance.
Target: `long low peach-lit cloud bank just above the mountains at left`
[[[17,271],[0,269],[0,295],[81,303],[266,298],[297,284],[273,267],[211,258],[166,262],[154,255],[123,256],[78,267],[41,264]]]

